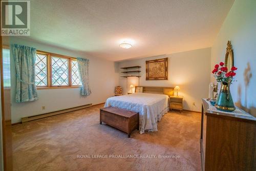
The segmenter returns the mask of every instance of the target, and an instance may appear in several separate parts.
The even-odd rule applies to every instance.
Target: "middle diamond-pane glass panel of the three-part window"
[[[52,86],[69,86],[69,59],[52,57]]]

